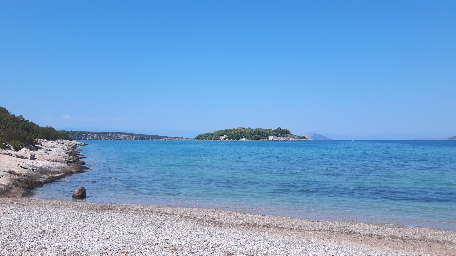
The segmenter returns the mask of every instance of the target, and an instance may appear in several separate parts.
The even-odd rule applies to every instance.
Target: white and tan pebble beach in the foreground
[[[0,199],[0,255],[456,255],[456,232],[227,210]]]

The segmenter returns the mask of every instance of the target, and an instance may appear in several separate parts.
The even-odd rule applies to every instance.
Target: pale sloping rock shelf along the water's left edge
[[[87,169],[75,147],[87,145],[69,140],[37,139],[35,147],[18,152],[0,149],[0,198],[25,197],[30,189]]]

